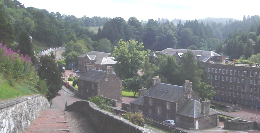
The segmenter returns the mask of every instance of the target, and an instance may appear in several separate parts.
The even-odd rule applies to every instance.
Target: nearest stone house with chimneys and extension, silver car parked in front
[[[153,78],[152,86],[146,91],[146,89],[140,89],[140,97],[132,100],[130,102],[131,111],[141,110],[144,115],[151,117],[153,119],[164,121],[166,119],[173,119],[178,125],[185,125],[185,128],[196,129],[197,119],[204,120],[212,119],[212,117],[217,118],[218,112],[210,109],[208,102],[207,107],[201,105],[200,97],[192,90],[192,82],[186,80],[183,86],[171,85],[161,83],[161,78],[155,76]],[[192,103],[193,102],[193,103]],[[191,105],[196,106],[191,106]],[[201,107],[203,106],[203,108]],[[206,107],[206,109],[204,109]],[[201,110],[204,109],[204,110]],[[195,116],[190,116],[193,111]],[[202,113],[201,113],[202,111]],[[205,113],[211,112],[211,113]],[[209,116],[212,115],[212,116]],[[193,119],[189,121],[183,121],[185,119]],[[194,123],[191,123],[194,121]],[[197,121],[197,126],[199,129],[206,127],[216,126],[217,121],[213,121],[208,125],[202,124],[202,121]]]

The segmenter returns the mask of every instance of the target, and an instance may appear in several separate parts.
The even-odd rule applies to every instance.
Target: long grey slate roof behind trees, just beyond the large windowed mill
[[[200,55],[198,60],[206,62],[207,60],[210,59],[210,57],[214,56],[221,56],[213,51],[206,51],[206,50],[191,50],[195,56]],[[178,53],[186,53],[187,50],[185,49],[175,49],[175,48],[167,48],[165,50],[162,50],[161,53],[166,54],[166,55],[174,55]]]

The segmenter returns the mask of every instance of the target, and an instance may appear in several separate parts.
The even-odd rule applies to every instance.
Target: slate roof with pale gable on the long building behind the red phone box
[[[97,51],[91,51],[91,52],[88,52],[86,54],[82,54],[78,57],[82,57],[84,58],[85,56],[88,56],[88,58],[90,60],[100,60],[102,59],[103,57],[109,57],[111,56],[111,53],[104,53],[104,52],[97,52]]]

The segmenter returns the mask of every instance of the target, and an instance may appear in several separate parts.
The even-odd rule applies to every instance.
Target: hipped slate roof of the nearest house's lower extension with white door
[[[218,114],[219,112],[215,111],[214,109],[210,109],[210,115]],[[201,103],[197,100],[188,99],[182,107],[177,111],[178,115],[183,115],[192,118],[198,118],[204,116],[201,113]]]

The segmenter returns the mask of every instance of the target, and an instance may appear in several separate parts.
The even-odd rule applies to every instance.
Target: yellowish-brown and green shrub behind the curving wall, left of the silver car
[[[142,111],[139,112],[127,112],[124,114],[118,114],[119,116],[123,117],[124,119],[129,120],[135,125],[141,126],[141,127],[147,127],[147,125],[152,124],[152,119],[146,119],[143,116]]]

